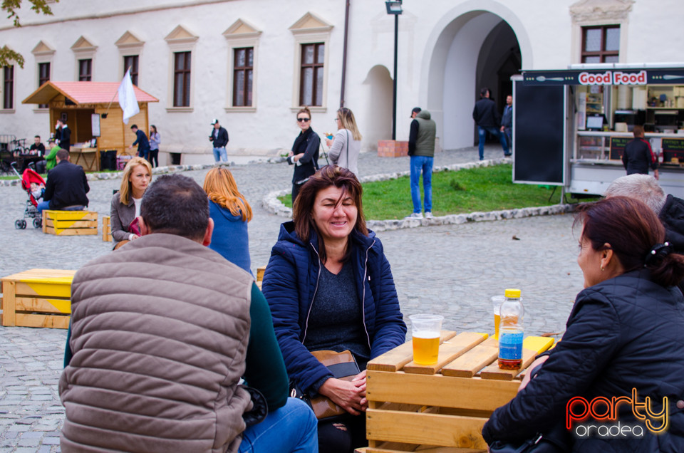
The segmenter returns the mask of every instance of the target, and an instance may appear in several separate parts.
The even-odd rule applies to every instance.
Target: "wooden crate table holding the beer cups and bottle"
[[[368,362],[366,452],[486,452],[482,426],[554,340],[526,338],[522,371],[499,369],[497,339],[486,333],[445,330],[440,342],[437,365],[413,363],[410,341]]]

